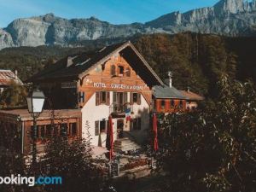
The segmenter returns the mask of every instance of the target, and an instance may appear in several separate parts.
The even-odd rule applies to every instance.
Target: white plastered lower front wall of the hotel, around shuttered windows
[[[128,102],[130,102],[130,93],[128,92]],[[110,106],[113,103],[113,91],[110,91]],[[111,113],[110,106],[101,104],[96,106],[96,93],[90,97],[90,100],[86,102],[84,108],[82,108],[82,132],[83,137],[88,138],[88,131],[90,133],[90,143],[94,146],[106,146],[107,133],[102,132],[101,137],[96,136],[96,121],[108,120]],[[141,129],[140,130],[130,130],[130,121],[126,121],[125,118],[113,118],[113,139],[118,138],[117,126],[118,119],[124,119],[123,130],[133,137],[137,143],[143,143],[148,134],[149,128],[149,103],[145,100],[143,95],[141,95],[141,104],[133,104],[131,107],[133,113],[131,113],[131,119],[141,118]],[[89,125],[89,130],[86,129],[86,124]]]

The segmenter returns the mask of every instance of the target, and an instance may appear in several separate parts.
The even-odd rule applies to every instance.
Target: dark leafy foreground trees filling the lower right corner
[[[256,93],[223,77],[218,98],[160,120],[158,165],[165,191],[255,191]]]

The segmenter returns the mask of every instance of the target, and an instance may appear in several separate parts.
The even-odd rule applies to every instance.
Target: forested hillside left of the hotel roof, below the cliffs
[[[103,45],[99,45],[102,47]],[[60,46],[39,46],[7,48],[0,51],[0,68],[18,70],[21,80],[26,80],[32,74],[54,63],[61,57],[75,53],[88,52],[95,45],[79,48],[62,48]]]

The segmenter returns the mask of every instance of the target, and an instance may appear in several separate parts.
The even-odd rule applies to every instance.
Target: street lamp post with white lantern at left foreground
[[[32,163],[34,164],[37,160],[37,118],[40,113],[43,111],[45,96],[41,90],[33,90],[27,97],[27,107],[28,112],[31,114],[33,119],[33,128],[32,128]]]

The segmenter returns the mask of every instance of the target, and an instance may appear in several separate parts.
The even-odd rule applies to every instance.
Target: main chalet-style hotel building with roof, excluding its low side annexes
[[[44,91],[55,109],[79,108],[83,137],[89,128],[91,144],[102,147],[110,115],[114,139],[131,137],[143,143],[152,88],[163,85],[131,42],[104,47],[92,55],[67,56],[29,81]]]

